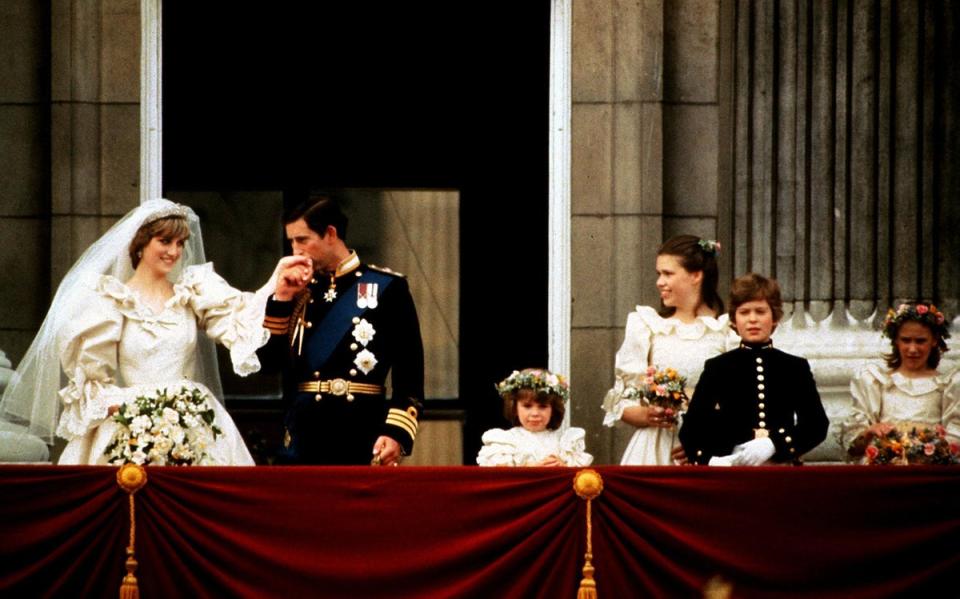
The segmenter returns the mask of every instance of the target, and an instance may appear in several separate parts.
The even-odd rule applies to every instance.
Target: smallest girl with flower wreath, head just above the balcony
[[[588,466],[582,428],[562,428],[570,392],[566,380],[547,370],[514,371],[497,385],[504,413],[515,426],[483,434],[481,466]]]

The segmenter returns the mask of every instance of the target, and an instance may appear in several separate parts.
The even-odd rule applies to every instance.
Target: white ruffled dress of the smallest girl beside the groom
[[[509,430],[493,428],[483,433],[483,447],[477,455],[481,466],[530,466],[555,455],[567,466],[589,466],[593,456],[586,452],[582,428],[531,432],[521,426]]]

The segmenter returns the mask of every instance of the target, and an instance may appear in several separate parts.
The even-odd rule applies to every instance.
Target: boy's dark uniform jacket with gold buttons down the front
[[[742,344],[706,361],[683,417],[680,442],[694,464],[769,437],[771,461],[799,463],[827,436],[829,420],[803,358],[770,343]]]

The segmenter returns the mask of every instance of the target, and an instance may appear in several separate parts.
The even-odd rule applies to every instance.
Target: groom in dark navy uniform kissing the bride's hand
[[[337,202],[284,215],[293,256],[267,304],[265,369],[284,376],[283,464],[396,466],[423,402],[423,342],[406,279],[360,261]],[[385,382],[391,372],[392,394]]]

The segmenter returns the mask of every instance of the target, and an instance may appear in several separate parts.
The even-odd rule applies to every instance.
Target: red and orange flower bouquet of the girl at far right
[[[960,446],[947,439],[941,425],[911,427],[907,432],[891,429],[885,435],[874,435],[864,450],[867,464],[960,464]]]

